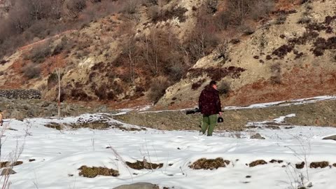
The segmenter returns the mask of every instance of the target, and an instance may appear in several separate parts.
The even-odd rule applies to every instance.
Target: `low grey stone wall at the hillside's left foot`
[[[0,97],[7,99],[41,99],[41,92],[38,90],[0,90]]]

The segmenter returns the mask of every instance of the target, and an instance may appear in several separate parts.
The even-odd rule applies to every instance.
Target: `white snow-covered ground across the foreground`
[[[295,114],[287,117],[290,116]],[[158,184],[160,188],[283,189],[297,188],[299,183],[296,180],[300,180],[300,175],[304,176],[304,183],[311,182],[314,189],[335,189],[336,167],[295,169],[295,164],[302,161],[308,164],[321,161],[328,161],[330,165],[336,163],[336,141],[322,140],[336,134],[336,128],[296,126],[288,129],[286,125],[281,125],[285,118],[267,121],[279,124],[279,130],[267,129],[264,127],[266,122],[249,123],[247,127],[258,127],[246,132],[215,132],[214,137],[199,136],[197,131],[147,129],[129,132],[116,128],[59,131],[43,126],[48,123],[83,123],[101,119],[119,123],[106,114],[86,114],[62,120],[6,120],[5,124],[11,130],[6,130],[1,137],[1,161],[8,159],[15,146],[23,146],[18,158],[23,164],[13,167],[17,174],[10,176],[10,188],[18,189],[107,189],[137,182]],[[249,139],[257,132],[265,140]],[[106,148],[108,146],[113,149]],[[155,170],[136,170],[124,163],[142,161],[144,158],[148,162],[164,165]],[[230,165],[213,170],[190,169],[189,165],[200,158],[223,158],[230,160]],[[31,159],[35,161],[29,162]],[[283,162],[248,166],[255,160],[269,162],[272,159]],[[78,176],[78,168],[82,165],[117,169],[120,176],[97,176],[93,179]]]

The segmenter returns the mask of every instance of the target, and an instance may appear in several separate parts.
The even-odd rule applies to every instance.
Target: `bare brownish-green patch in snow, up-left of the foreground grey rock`
[[[109,169],[106,167],[87,167],[83,165],[78,170],[80,170],[79,176],[84,176],[87,178],[94,178],[98,175],[119,176],[119,172],[117,170]]]

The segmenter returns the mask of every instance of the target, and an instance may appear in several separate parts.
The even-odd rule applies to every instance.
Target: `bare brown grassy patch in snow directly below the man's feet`
[[[226,165],[229,165],[229,160],[223,160],[223,158],[216,158],[216,159],[206,159],[201,158],[200,160],[197,160],[196,162],[193,162],[193,165],[190,165],[189,167],[191,169],[218,169],[219,167],[226,167]]]

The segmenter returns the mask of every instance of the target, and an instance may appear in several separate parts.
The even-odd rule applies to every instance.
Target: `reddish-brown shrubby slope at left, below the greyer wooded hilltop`
[[[137,13],[120,10],[80,29],[24,46],[1,61],[0,87],[36,88],[45,99],[52,100],[57,97],[55,70],[60,69],[62,99],[119,101],[142,97],[147,103],[144,93],[152,78],[159,73],[164,81],[167,77],[181,78],[183,71],[179,69],[184,67],[177,68],[179,76],[172,76],[169,65],[162,65],[174,62],[169,56],[178,54],[181,38],[195,25],[192,6],[197,4],[200,6],[200,1],[167,1],[158,5],[165,14],[154,17],[150,12],[160,10],[150,9],[158,6],[145,3]],[[161,48],[167,43],[176,44],[169,51],[172,55],[164,55],[167,48]],[[149,56],[158,56],[158,65],[144,59],[144,45],[151,51]],[[181,55],[174,57],[176,62],[181,60]],[[169,85],[166,83],[164,87]]]

